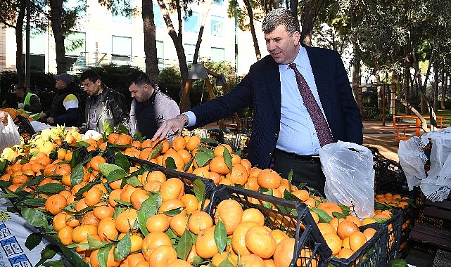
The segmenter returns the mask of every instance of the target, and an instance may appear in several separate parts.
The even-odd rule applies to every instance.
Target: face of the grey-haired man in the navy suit
[[[289,36],[284,25],[277,26],[265,34],[266,48],[277,64],[290,64],[298,56],[299,32]]]

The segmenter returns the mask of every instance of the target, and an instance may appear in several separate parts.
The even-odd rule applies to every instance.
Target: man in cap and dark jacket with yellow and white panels
[[[53,78],[56,79],[55,88],[58,91],[50,110],[41,113],[41,119],[52,126],[81,126],[80,86],[77,86],[72,75],[67,73],[53,75]]]

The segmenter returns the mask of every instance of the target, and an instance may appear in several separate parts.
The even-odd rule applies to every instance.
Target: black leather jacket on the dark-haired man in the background
[[[84,119],[89,128],[89,112],[91,110],[94,97],[89,96],[86,100],[86,107],[84,112]],[[129,128],[129,111],[125,105],[125,97],[113,89],[103,85],[101,98],[96,106],[96,131],[103,133],[103,124],[108,122],[114,129],[117,129],[119,124]]]

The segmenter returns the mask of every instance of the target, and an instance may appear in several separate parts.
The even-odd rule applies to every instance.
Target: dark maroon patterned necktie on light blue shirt
[[[303,75],[300,74],[295,63],[291,63],[288,67],[291,67],[296,74],[296,82],[298,83],[299,93],[304,100],[305,108],[307,108],[307,111],[312,118],[315,131],[317,131],[319,145],[323,146],[328,143],[334,143],[334,138],[332,138],[329,125],[327,125],[326,119],[324,119],[317,100],[315,100],[315,97],[313,96],[312,91],[310,91],[310,87],[307,82],[305,82]]]

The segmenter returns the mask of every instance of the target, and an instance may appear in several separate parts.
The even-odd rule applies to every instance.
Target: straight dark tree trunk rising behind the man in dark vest
[[[142,17],[144,24],[144,54],[146,55],[146,74],[152,84],[158,83],[157,41],[152,0],[142,0]]]

